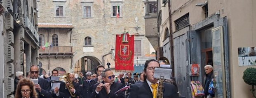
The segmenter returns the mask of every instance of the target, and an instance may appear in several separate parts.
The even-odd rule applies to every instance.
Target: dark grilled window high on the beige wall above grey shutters
[[[178,18],[175,22],[176,30],[182,29],[189,25],[189,13],[185,14],[181,18]]]

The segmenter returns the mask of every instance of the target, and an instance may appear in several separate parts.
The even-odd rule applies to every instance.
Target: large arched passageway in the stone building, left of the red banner
[[[94,56],[84,56],[75,62],[75,73],[82,72],[85,76],[85,71],[95,73],[95,69],[98,65],[101,65],[101,61]]]

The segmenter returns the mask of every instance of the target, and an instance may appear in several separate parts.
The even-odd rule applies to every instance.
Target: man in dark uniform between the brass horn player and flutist
[[[92,72],[85,73],[87,80],[83,82],[82,95],[79,98],[92,98],[92,86],[96,83],[92,79]]]

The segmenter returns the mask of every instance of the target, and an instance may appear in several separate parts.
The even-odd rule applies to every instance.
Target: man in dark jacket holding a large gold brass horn
[[[73,82],[73,80],[74,80],[73,73],[69,73],[67,77],[69,79],[69,80],[67,79],[67,81],[70,81],[72,83],[73,87],[71,86],[70,82],[66,82],[66,96],[68,98],[77,98],[81,94],[80,90],[82,88],[79,86],[79,84],[77,82]]]

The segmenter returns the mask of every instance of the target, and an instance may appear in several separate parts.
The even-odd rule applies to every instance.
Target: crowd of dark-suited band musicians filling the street
[[[157,98],[160,81],[155,79],[154,69],[160,67],[157,60],[147,60],[141,73],[120,73],[115,76],[111,69],[96,67],[96,73],[90,71],[73,73],[56,80],[59,71],[52,70],[51,75],[39,76],[39,67],[32,65],[30,77],[16,72],[15,98]],[[132,78],[133,75],[133,78]],[[174,79],[165,80],[163,98],[184,98],[179,96]]]

